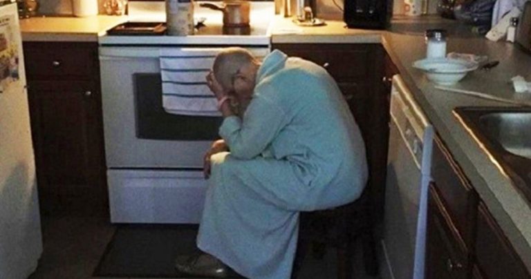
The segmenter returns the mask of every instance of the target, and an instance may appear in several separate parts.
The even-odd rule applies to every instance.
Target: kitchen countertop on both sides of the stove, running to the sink
[[[97,37],[103,35],[105,30],[123,21],[124,17],[108,16],[30,18],[21,20],[21,31],[24,41],[97,41]],[[409,26],[407,20],[394,21],[391,32],[346,29],[342,21],[326,23],[326,26],[299,27],[290,19],[275,16],[268,32],[272,43],[277,44],[381,43],[400,70],[400,75],[416,101],[425,110],[440,137],[531,271],[530,203],[512,186],[512,182],[499,171],[496,164],[474,142],[452,113],[456,106],[504,104],[434,88],[434,84],[427,81],[419,70],[411,67],[413,61],[425,57],[426,50],[422,28],[410,28],[414,25]],[[440,21],[427,19],[425,28],[432,28],[438,23]],[[451,22],[443,23],[449,24],[447,27],[452,26]],[[450,32],[447,50],[487,55],[492,60],[500,61],[499,66],[488,72],[469,73],[456,88],[513,100],[531,100],[531,94],[513,93],[509,83],[510,78],[515,75],[522,75],[531,80],[531,55],[504,41],[487,41],[483,37],[463,33],[458,29]]]

